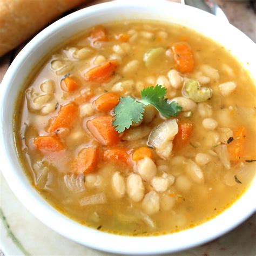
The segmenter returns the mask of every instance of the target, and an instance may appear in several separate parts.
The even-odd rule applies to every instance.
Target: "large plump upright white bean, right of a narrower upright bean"
[[[145,188],[142,178],[138,174],[130,174],[126,180],[126,191],[128,196],[134,201],[139,202],[144,197]]]

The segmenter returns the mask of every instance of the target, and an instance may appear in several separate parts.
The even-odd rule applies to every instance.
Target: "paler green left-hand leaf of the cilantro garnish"
[[[113,126],[117,132],[128,129],[132,123],[138,123],[143,118],[144,105],[136,99],[128,97],[120,98],[120,102],[114,108]]]

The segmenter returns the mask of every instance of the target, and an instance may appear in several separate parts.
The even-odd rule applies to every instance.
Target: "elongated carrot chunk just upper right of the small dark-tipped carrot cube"
[[[110,60],[100,66],[96,66],[84,74],[85,80],[98,83],[106,82],[113,75],[117,65],[118,62],[116,60]]]

